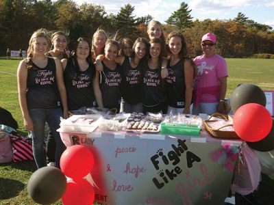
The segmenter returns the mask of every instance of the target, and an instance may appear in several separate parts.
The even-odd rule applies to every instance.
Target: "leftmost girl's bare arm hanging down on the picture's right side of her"
[[[66,118],[69,118],[69,113],[68,113],[68,103],[66,100],[66,87],[64,85],[62,64],[60,59],[56,57],[54,58],[54,61],[56,66],[56,81],[57,81],[58,90],[59,90],[60,98],[63,105],[63,117],[66,119]]]

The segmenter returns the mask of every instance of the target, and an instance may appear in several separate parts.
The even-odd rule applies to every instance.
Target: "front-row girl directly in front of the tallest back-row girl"
[[[161,77],[162,46],[158,38],[150,42],[149,61],[143,75],[142,102],[143,112],[158,113],[164,110],[166,94]]]

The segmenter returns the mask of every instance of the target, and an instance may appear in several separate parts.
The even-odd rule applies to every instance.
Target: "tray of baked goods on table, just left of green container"
[[[160,122],[162,122],[162,114],[149,113],[144,115],[143,113],[132,113],[127,118],[128,132],[135,133],[159,133]]]

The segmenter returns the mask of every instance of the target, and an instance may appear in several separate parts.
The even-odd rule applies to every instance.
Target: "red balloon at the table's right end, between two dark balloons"
[[[260,141],[271,131],[271,114],[262,105],[248,103],[237,109],[233,117],[233,126],[242,140]]]

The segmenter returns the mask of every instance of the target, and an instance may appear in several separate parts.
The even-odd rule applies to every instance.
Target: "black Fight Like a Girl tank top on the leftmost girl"
[[[61,106],[56,82],[55,61],[48,57],[47,66],[27,70],[27,107],[28,109],[54,109]]]

